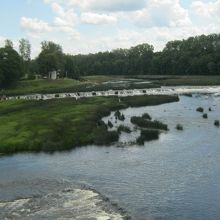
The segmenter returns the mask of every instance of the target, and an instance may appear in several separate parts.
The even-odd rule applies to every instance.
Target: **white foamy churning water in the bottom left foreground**
[[[0,202],[0,219],[121,220],[124,217],[97,192],[65,189],[42,197]]]

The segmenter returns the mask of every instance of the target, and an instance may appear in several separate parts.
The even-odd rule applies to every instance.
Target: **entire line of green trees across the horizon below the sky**
[[[186,40],[170,41],[160,52],[147,43],[129,49],[116,49],[88,55],[65,54],[51,41],[41,43],[41,52],[31,59],[31,45],[19,42],[19,52],[6,40],[0,48],[0,86],[6,87],[24,75],[78,79],[84,75],[219,75],[220,34],[201,35]]]

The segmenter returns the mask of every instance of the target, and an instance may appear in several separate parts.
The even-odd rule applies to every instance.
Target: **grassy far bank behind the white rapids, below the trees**
[[[10,88],[0,90],[0,96],[16,96],[26,94],[48,94],[48,93],[65,93],[65,92],[92,92],[121,89],[142,89],[158,87],[154,84],[136,84],[129,83],[107,83],[111,80],[121,81],[124,78],[111,76],[90,76],[83,77],[80,80],[59,79],[59,80],[23,80],[19,81]]]

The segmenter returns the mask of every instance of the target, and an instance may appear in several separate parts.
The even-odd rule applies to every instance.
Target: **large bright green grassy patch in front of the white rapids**
[[[0,102],[0,153],[66,150],[117,140],[98,121],[117,109],[178,101],[176,96]]]

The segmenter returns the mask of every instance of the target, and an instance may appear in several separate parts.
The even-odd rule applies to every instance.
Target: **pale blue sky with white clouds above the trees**
[[[220,32],[220,0],[1,0],[0,46],[52,40],[71,54],[129,48]]]

